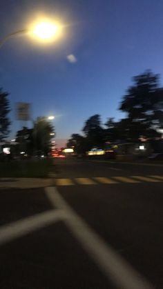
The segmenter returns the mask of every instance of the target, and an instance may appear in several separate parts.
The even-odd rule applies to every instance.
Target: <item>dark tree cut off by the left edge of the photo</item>
[[[0,142],[8,137],[8,133],[10,132],[9,112],[8,92],[3,92],[2,88],[0,88]]]

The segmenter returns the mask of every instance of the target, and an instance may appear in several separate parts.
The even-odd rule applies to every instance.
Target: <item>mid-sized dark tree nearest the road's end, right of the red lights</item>
[[[95,114],[84,124],[82,129],[88,141],[88,148],[102,148],[104,146],[104,128],[99,114]]]

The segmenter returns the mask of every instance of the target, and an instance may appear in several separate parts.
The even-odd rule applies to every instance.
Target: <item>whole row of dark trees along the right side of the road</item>
[[[115,121],[108,117],[102,123],[101,116],[95,114],[85,121],[82,134],[71,135],[67,147],[74,147],[75,152],[82,154],[91,148],[104,148],[106,142],[159,139],[163,128],[163,88],[159,78],[151,70],[133,77],[133,85],[119,104],[126,118]]]

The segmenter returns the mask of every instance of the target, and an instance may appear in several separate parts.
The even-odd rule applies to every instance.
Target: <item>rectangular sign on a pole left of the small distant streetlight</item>
[[[18,102],[17,103],[17,120],[30,121],[30,103]]]

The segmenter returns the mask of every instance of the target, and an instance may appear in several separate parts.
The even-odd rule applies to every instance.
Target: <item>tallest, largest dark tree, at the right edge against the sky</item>
[[[119,109],[127,113],[130,139],[157,136],[163,127],[163,88],[159,86],[159,76],[148,70],[133,77],[133,86],[128,88]]]

